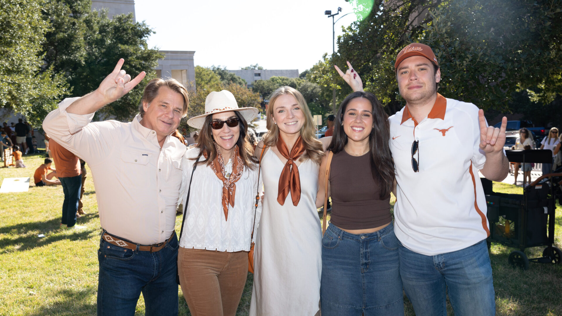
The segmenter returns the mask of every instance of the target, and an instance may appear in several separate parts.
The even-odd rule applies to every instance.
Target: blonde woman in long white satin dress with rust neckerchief
[[[325,145],[315,137],[302,94],[281,87],[269,98],[269,132],[257,145],[264,200],[256,232],[250,315],[319,312],[321,228],[316,199]],[[322,138],[329,142],[331,137]]]

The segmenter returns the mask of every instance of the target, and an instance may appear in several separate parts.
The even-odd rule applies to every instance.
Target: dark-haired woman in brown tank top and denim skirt
[[[398,240],[390,214],[395,174],[389,123],[377,97],[353,92],[342,102],[328,151],[332,219],[322,238],[323,316],[404,315]],[[327,155],[319,171],[324,195]],[[318,205],[317,205],[318,206]]]

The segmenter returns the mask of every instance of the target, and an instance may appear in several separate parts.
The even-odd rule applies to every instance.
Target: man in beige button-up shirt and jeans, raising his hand
[[[98,250],[98,315],[134,314],[142,291],[146,315],[175,316],[174,226],[186,148],[170,134],[187,113],[188,94],[174,79],[153,79],[132,122],[91,123],[94,112],[144,78],[143,71],[131,80],[121,70],[123,62],[96,91],[62,101],[47,115],[43,129],[92,169],[104,230]]]

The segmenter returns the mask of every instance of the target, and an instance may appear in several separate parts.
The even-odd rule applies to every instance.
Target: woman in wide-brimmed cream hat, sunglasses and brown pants
[[[187,121],[201,133],[182,161],[178,273],[194,316],[235,315],[242,297],[251,234],[261,213],[261,203],[254,206],[259,168],[246,139],[247,121],[258,112],[239,108],[223,90],[207,96],[205,114]]]

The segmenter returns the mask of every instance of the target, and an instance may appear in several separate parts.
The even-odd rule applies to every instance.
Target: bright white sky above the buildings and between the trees
[[[135,0],[135,17],[156,31],[149,47],[195,51],[195,65],[237,70],[257,63],[302,73],[332,53],[332,18],[324,11],[338,7],[336,19],[352,12],[344,0]],[[336,23],[336,40],[356,19],[351,13]]]

